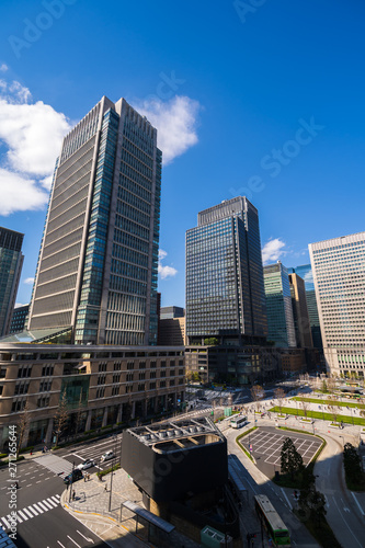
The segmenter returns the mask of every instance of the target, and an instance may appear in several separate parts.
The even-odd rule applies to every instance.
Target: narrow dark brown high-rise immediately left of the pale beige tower
[[[311,349],[313,342],[311,339],[305,283],[298,274],[289,274],[289,284],[297,346],[300,349]]]

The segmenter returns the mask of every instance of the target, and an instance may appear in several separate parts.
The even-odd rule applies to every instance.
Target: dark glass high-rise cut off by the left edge
[[[0,336],[9,333],[24,255],[24,235],[0,227]]]

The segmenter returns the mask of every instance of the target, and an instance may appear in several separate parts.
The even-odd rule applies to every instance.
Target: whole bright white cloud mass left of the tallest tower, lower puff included
[[[1,67],[0,67],[1,70]],[[0,214],[43,208],[55,161],[70,124],[65,114],[38,101],[27,88],[0,80]]]

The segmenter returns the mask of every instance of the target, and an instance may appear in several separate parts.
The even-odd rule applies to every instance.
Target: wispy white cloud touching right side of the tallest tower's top
[[[197,101],[175,95],[168,102],[146,100],[136,109],[157,128],[158,147],[162,150],[164,165],[198,141],[196,125],[201,105]]]

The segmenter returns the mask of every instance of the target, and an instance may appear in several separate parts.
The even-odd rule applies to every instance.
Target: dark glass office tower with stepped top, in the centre
[[[186,335],[243,343],[267,332],[256,208],[236,197],[186,232]]]

